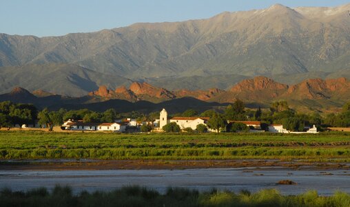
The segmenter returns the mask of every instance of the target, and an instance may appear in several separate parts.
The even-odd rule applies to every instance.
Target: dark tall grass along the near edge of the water
[[[250,193],[243,190],[236,194],[229,191],[211,190],[200,193],[187,188],[168,188],[165,194],[139,186],[125,186],[110,192],[82,191],[74,195],[68,186],[56,186],[49,192],[37,188],[27,192],[0,191],[0,206],[325,206],[348,207],[350,195],[336,192],[320,196],[316,191],[300,195],[282,195],[278,190],[260,190]]]

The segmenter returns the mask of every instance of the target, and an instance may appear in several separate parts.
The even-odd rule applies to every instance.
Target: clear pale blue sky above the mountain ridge
[[[350,0],[0,0],[0,33],[59,36],[138,22],[206,19],[220,12],[289,6],[340,6]]]

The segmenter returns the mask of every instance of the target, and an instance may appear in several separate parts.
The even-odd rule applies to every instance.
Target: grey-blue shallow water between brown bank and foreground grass
[[[327,173],[325,173],[327,172]],[[331,173],[331,174],[330,174]],[[297,185],[277,185],[282,179]],[[285,195],[317,190],[320,195],[332,195],[336,190],[350,193],[350,171],[347,170],[289,170],[285,168],[207,168],[190,170],[3,170],[0,188],[28,190],[56,184],[81,190],[113,190],[121,186],[146,186],[161,193],[169,187],[184,187],[200,191],[250,190],[276,188]]]

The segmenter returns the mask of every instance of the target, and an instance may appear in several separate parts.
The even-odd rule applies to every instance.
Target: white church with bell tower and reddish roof
[[[170,122],[175,122],[181,129],[189,127],[192,128],[192,130],[196,130],[198,124],[204,124],[207,126],[207,121],[209,120],[209,117],[172,117],[168,119],[167,111],[164,108],[161,111],[159,118],[159,128],[163,128],[163,126]]]

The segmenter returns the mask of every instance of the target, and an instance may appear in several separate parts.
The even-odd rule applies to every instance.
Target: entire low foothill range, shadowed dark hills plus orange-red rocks
[[[245,79],[229,90],[167,90],[146,82],[133,82],[129,87],[119,86],[114,90],[99,86],[98,90],[83,97],[65,97],[43,90],[29,92],[14,88],[0,95],[0,101],[34,103],[39,108],[106,110],[116,108],[120,112],[129,110],[152,111],[170,107],[173,112],[187,108],[204,110],[227,106],[240,99],[249,108],[269,108],[273,101],[286,100],[296,110],[306,112],[336,112],[350,99],[350,81],[339,79],[307,79],[294,85],[278,83],[268,77]]]

